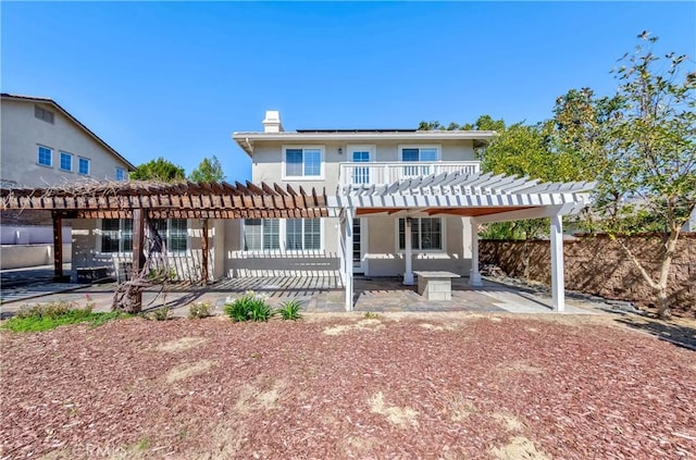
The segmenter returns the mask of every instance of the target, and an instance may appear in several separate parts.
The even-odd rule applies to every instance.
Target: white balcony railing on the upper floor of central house
[[[344,188],[363,185],[386,185],[405,178],[459,171],[474,174],[478,172],[478,164],[477,161],[339,163],[338,183]]]

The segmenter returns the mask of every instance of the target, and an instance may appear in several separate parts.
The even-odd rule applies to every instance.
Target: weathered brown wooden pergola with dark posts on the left
[[[201,219],[201,277],[208,283],[209,219],[326,217],[325,190],[290,185],[228,183],[86,182],[0,190],[1,211],[50,211],[55,279],[63,276],[63,219],[133,219],[133,272],[145,265],[146,219]]]

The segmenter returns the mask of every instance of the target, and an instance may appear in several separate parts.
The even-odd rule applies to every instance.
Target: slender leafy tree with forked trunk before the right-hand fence
[[[686,55],[656,55],[656,37],[643,33],[638,38],[636,51],[625,54],[614,71],[621,108],[607,122],[611,138],[596,204],[606,231],[655,293],[659,315],[668,318],[672,258],[682,226],[696,207],[696,72]],[[663,228],[657,278],[619,237],[631,233],[627,224],[639,222],[646,210]]]

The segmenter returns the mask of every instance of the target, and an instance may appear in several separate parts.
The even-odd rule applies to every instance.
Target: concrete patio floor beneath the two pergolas
[[[78,306],[94,302],[96,310],[111,309],[114,283],[75,285],[52,283],[48,270],[24,273],[2,272],[2,316],[12,314],[24,304],[52,301],[72,301]],[[209,286],[170,284],[144,291],[144,311],[169,304],[175,315],[188,314],[191,302],[208,302],[219,311],[228,297],[239,297],[247,290],[268,296],[269,303],[276,306],[284,300],[297,299],[307,312],[345,311],[345,291],[337,277],[244,277],[222,279]],[[355,310],[359,312],[518,312],[552,313],[551,299],[484,279],[483,286],[469,286],[468,278],[452,281],[452,299],[427,300],[420,296],[415,286],[405,286],[399,277],[355,278]],[[566,313],[592,313],[604,303],[569,297]]]

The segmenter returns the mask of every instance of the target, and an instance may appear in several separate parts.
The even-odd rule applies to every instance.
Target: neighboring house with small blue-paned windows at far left
[[[54,100],[2,94],[0,186],[50,187],[79,179],[126,181],[135,166]],[[5,213],[3,269],[52,263],[50,213]],[[71,232],[63,228],[69,248]],[[66,250],[66,254],[71,251]]]

